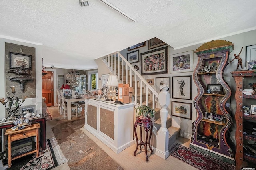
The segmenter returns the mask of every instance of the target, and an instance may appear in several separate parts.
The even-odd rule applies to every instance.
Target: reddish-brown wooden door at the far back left
[[[53,96],[53,72],[45,71],[46,75],[42,76],[42,96],[46,98],[44,101],[48,106],[54,106]]]

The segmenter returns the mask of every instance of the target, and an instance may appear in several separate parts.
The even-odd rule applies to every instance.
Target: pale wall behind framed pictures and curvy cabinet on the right
[[[245,63],[246,63],[246,46],[256,44],[256,30],[252,30],[252,31],[245,32],[245,33],[242,33],[242,34],[237,34],[237,35],[234,35],[234,36],[228,36],[228,37],[225,37],[225,38],[221,38],[220,40],[230,41],[234,44],[234,50],[232,51],[232,53],[229,56],[229,61],[231,61],[234,58],[234,54],[238,55],[241,48],[244,47],[243,50],[242,50],[242,53],[240,54],[240,57],[242,58],[242,62],[243,62],[243,66],[244,66]],[[149,78],[151,78],[151,79],[154,78],[155,79],[155,77],[171,77],[170,90],[172,90],[172,77],[173,76],[193,75],[193,72],[170,73],[170,55],[177,54],[177,53],[183,53],[183,52],[186,52],[186,51],[192,51],[192,50],[196,51],[196,49],[198,47],[200,47],[202,44],[204,44],[204,43],[193,45],[193,46],[182,48],[182,49],[177,49],[177,50],[174,50],[172,47],[168,46],[168,73],[167,74],[161,74],[161,75],[146,75],[146,76],[144,76],[144,78],[145,79],[149,79]],[[132,51],[139,50],[139,55],[140,55],[140,53],[144,53],[146,51],[151,51],[151,50],[160,48],[160,47],[158,47],[158,48],[148,50],[147,45],[148,45],[148,42],[146,42],[146,46],[140,47],[138,49],[134,49]],[[161,47],[164,47],[164,46],[161,46]],[[124,49],[120,53],[124,57],[126,57],[127,56],[126,53],[129,53],[129,52],[130,51],[127,51],[127,49]],[[141,57],[140,57],[140,60],[141,60]],[[194,68],[196,67],[197,62],[198,62],[198,57],[194,53]],[[236,111],[236,103],[235,103],[235,99],[234,99],[234,94],[235,94],[235,91],[236,91],[236,86],[235,86],[234,78],[232,77],[230,72],[234,71],[234,69],[236,69],[237,62],[238,62],[237,60],[234,60],[232,63],[230,63],[226,67],[226,69],[224,71],[224,79],[227,81],[228,85],[230,86],[230,88],[232,90],[232,96],[231,96],[230,100],[227,102],[227,105],[229,107],[231,106],[232,113],[230,115],[233,115],[233,122],[234,123],[235,123],[234,113]],[[139,63],[133,63],[132,65],[133,66],[138,65],[139,68],[141,69],[140,62]],[[101,67],[98,67],[98,68],[101,68]],[[100,71],[100,69],[99,69],[99,71]],[[155,88],[155,86],[153,86],[153,87]],[[189,139],[192,135],[192,129],[191,129],[192,122],[197,117],[196,109],[193,106],[193,99],[196,97],[196,94],[197,94],[197,87],[196,87],[194,81],[192,80],[192,100],[172,99],[172,91],[171,91],[170,105],[168,107],[169,117],[172,117],[172,126],[181,128],[180,136],[184,136],[184,137],[189,138]],[[192,120],[171,116],[171,101],[181,101],[181,102],[185,102],[185,103],[192,103]],[[232,129],[231,137],[232,137],[232,140],[234,141],[235,124],[232,125],[231,129]]]

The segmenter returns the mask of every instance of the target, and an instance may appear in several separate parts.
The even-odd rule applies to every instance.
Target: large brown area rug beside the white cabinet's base
[[[52,128],[70,170],[123,170],[102,148],[80,130],[85,119],[67,121]]]

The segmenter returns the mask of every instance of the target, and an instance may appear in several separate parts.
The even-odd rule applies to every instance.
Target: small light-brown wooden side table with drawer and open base
[[[21,158],[23,156],[36,153],[36,156],[39,156],[39,128],[40,123],[33,124],[29,127],[25,127],[22,130],[12,130],[7,129],[5,132],[5,135],[8,135],[8,165],[11,167],[11,161]],[[32,136],[36,136],[36,150],[32,150],[30,152],[26,152],[22,155],[16,156],[14,158],[11,158],[11,143],[16,140],[21,140],[25,138],[29,138]]]

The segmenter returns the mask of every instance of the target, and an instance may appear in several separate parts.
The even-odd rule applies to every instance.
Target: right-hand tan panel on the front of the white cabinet
[[[114,139],[114,111],[100,108],[100,131]]]

